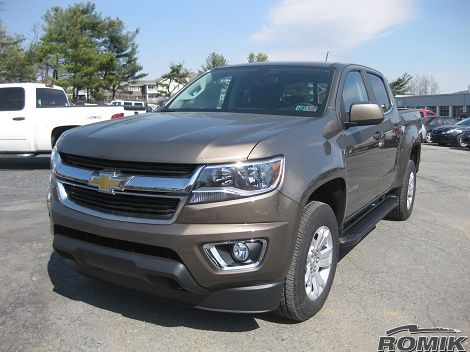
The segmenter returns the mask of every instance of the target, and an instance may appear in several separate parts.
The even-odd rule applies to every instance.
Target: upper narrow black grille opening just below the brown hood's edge
[[[193,174],[197,167],[195,164],[162,164],[140,161],[105,160],[66,153],[60,153],[60,158],[64,164],[69,166],[89,170],[113,169],[129,175],[188,177]]]

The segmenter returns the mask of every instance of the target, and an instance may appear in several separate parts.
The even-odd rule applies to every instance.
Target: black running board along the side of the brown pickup
[[[342,236],[339,238],[339,244],[344,247],[351,247],[359,243],[397,205],[398,198],[395,196],[387,196],[376,205],[372,205],[364,215],[343,231]]]

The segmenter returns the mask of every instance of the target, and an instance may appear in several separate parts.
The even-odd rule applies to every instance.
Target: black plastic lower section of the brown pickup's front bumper
[[[201,309],[260,313],[277,308],[283,283],[208,290],[180,262],[102,248],[56,234],[56,252],[80,273]]]

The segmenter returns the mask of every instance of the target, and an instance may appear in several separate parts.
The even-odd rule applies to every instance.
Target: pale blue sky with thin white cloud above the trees
[[[41,17],[68,0],[3,0],[0,19],[34,37]],[[139,58],[153,79],[171,61],[197,70],[212,51],[229,63],[264,51],[272,60],[323,60],[368,65],[394,79],[432,74],[441,93],[470,85],[468,0],[102,0],[105,16],[140,28]]]

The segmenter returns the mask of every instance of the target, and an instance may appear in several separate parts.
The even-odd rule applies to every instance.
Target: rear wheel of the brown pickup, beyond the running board
[[[416,195],[416,166],[413,160],[408,161],[403,184],[395,190],[398,205],[387,215],[386,219],[403,221],[410,217]]]

